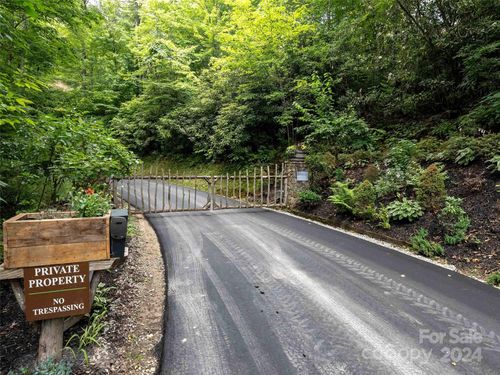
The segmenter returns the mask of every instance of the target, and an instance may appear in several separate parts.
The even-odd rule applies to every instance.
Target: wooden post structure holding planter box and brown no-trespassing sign
[[[75,218],[71,212],[4,222],[0,280],[11,280],[26,319],[41,321],[38,361],[59,360],[64,331],[90,312],[100,272],[116,260],[110,259],[109,222],[109,215]]]

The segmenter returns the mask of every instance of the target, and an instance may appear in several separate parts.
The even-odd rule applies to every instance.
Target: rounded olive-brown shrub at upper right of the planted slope
[[[446,176],[436,164],[429,165],[420,175],[416,188],[417,200],[425,209],[437,211],[446,196]]]

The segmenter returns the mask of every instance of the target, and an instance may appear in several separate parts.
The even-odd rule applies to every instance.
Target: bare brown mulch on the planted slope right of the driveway
[[[443,245],[445,260],[459,271],[481,278],[500,271],[500,201],[495,188],[496,179],[480,163],[467,167],[450,166],[446,171],[449,177],[448,194],[463,199],[471,226],[466,242],[454,246]],[[392,240],[398,245],[408,243],[409,238],[420,228],[426,228],[433,240],[442,242],[437,215],[432,213],[426,213],[413,223],[391,223],[390,229],[382,229],[375,223],[339,214],[326,201],[314,208],[299,205],[295,209],[310,218],[314,216],[334,226]]]

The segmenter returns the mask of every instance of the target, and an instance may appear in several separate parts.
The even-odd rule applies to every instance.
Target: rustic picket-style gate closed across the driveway
[[[288,173],[285,164],[211,176],[145,173],[142,167],[113,177],[110,188],[114,206],[132,213],[277,207],[288,202]]]

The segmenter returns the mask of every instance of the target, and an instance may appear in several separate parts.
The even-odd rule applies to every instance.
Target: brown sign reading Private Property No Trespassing
[[[26,320],[90,312],[89,263],[24,268]]]

